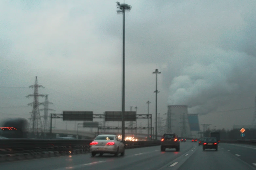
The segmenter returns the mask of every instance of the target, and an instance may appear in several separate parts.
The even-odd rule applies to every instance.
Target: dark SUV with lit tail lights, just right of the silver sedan
[[[173,133],[165,133],[161,139],[161,151],[165,151],[165,148],[175,148],[179,151],[179,136]]]

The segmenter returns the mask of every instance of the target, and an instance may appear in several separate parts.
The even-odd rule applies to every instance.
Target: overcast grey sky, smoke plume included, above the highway
[[[167,105],[188,105],[200,123],[251,124],[256,1],[125,3],[132,6],[126,13],[126,110],[138,106],[146,114],[149,100],[155,113],[152,72],[159,68],[162,116]],[[26,95],[35,76],[55,113],[121,110],[122,15],[115,1],[0,1],[0,18],[0,119],[30,117],[33,99]]]

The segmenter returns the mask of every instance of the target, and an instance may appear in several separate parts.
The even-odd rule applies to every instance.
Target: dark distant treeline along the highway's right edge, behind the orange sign
[[[210,132],[219,132],[220,140],[256,139],[256,129],[246,129],[246,131],[244,132],[244,137],[241,137],[240,129],[208,129],[205,132],[205,136],[210,136]]]

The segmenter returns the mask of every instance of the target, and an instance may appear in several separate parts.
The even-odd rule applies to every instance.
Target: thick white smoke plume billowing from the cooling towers
[[[215,48],[194,60],[173,78],[168,100],[172,105],[188,105],[190,113],[214,111],[256,82],[256,58],[245,52]]]

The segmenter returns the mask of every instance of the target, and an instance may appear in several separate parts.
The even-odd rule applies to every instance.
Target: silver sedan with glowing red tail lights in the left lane
[[[125,145],[119,139],[117,135],[98,135],[94,141],[90,143],[92,156],[97,153],[102,156],[104,153],[112,153],[118,156],[121,153],[122,156],[125,155]]]

